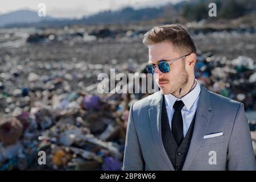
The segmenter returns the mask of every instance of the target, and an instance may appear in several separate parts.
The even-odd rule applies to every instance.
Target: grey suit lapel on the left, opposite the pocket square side
[[[155,146],[162,156],[164,162],[166,162],[167,166],[170,170],[174,170],[170,159],[164,150],[163,142],[162,142],[162,134],[161,134],[161,114],[162,114],[162,104],[163,104],[163,94],[162,92],[158,92],[154,100],[151,102],[151,107],[148,110],[151,132],[154,139]]]

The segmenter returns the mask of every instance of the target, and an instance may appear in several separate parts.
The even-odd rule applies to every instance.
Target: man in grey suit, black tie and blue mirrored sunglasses
[[[177,24],[154,27],[143,43],[160,91],[130,108],[123,169],[255,170],[243,104],[196,81],[188,31]]]

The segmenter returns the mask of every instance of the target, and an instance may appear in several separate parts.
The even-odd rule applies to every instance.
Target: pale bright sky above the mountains
[[[0,14],[19,9],[38,11],[39,3],[46,5],[46,14],[55,18],[81,18],[104,10],[118,10],[132,6],[135,9],[176,3],[181,0],[7,0],[0,1]]]

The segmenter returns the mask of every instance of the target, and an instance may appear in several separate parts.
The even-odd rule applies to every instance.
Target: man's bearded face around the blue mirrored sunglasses
[[[148,47],[149,64],[157,65],[160,60],[172,60],[180,56],[183,55],[175,51],[169,42],[152,44]],[[187,83],[188,72],[185,70],[185,60],[183,59],[171,63],[168,73],[162,73],[158,67],[155,68],[155,81],[163,94],[174,93]]]

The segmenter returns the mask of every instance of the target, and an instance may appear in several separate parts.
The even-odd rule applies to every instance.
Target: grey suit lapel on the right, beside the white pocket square
[[[195,126],[193,130],[188,154],[185,159],[182,170],[188,170],[189,166],[192,163],[192,160],[196,156],[197,150],[199,150],[199,147],[205,135],[205,131],[207,130],[210,117],[212,116],[210,109],[211,109],[211,106],[210,106],[209,92],[207,89],[201,86],[199,105],[197,106],[197,111],[196,111]]]

